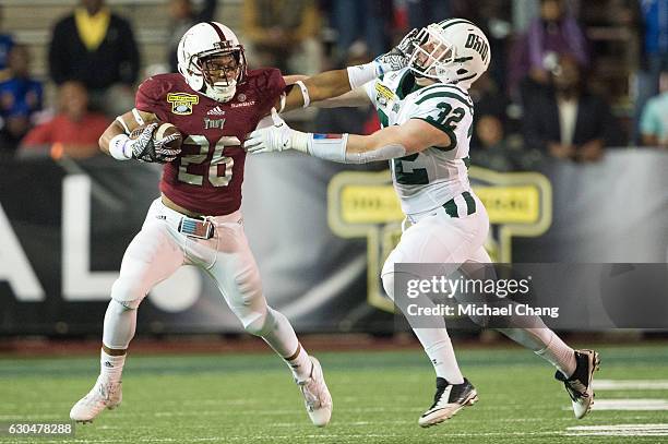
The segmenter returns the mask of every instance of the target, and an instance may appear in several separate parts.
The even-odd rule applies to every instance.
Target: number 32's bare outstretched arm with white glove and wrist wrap
[[[342,164],[367,164],[419,153],[431,146],[450,146],[450,136],[420,119],[409,119],[370,135],[303,133],[289,128],[275,110],[274,125],[253,131],[244,143],[249,153],[296,149]]]

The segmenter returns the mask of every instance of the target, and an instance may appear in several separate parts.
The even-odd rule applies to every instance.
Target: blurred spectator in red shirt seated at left
[[[90,157],[99,152],[98,140],[110,121],[88,111],[88,94],[80,82],[65,82],[59,89],[59,112],[31,130],[22,147],[52,146],[55,155]]]

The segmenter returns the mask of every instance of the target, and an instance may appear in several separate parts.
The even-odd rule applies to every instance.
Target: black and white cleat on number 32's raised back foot
[[[566,379],[563,373],[557,371],[554,379],[563,382],[573,404],[573,413],[575,413],[575,418],[582,419],[592,410],[594,405],[592,380],[594,379],[594,372],[600,365],[600,359],[594,350],[575,350],[575,361],[577,367],[575,367],[575,372],[571,377]]]

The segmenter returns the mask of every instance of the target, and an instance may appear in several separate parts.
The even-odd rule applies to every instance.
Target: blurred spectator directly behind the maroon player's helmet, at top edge
[[[216,13],[217,0],[204,0],[204,4],[199,12],[195,12],[192,0],[171,0],[169,2],[169,37],[167,60],[169,71],[178,72],[177,69],[177,48],[181,37],[194,24],[200,22],[211,22]]]

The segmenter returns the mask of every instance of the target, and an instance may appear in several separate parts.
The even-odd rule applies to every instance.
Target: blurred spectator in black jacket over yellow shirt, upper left
[[[58,85],[82,82],[91,95],[91,105],[109,116],[132,108],[139,65],[130,24],[109,11],[104,0],[81,0],[81,5],[53,27],[49,47],[51,79]]]

